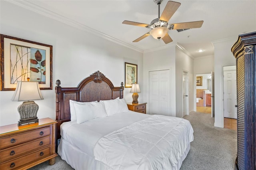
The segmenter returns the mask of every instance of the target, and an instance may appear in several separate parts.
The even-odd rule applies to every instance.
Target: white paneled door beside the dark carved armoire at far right
[[[224,70],[223,73],[224,117],[237,119],[236,70]]]

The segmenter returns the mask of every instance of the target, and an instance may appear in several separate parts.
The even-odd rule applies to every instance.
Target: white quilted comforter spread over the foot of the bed
[[[115,170],[168,169],[193,140],[186,119],[153,115],[100,138],[94,156]]]

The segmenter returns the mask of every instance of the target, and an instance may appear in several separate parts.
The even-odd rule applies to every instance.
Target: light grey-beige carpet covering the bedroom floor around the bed
[[[210,114],[191,112],[184,119],[194,129],[194,141],[180,170],[234,170],[237,153],[237,132],[214,127]],[[73,170],[60,156],[52,166],[48,161],[29,170]]]

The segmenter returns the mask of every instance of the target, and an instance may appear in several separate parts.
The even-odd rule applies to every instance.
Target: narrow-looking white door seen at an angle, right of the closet
[[[187,115],[188,111],[188,73],[183,71],[182,72],[182,105],[183,105],[183,111],[182,111],[182,117]]]

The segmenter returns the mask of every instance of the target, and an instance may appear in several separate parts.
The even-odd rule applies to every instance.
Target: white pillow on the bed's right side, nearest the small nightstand
[[[125,99],[103,100],[108,116],[129,111]]]

